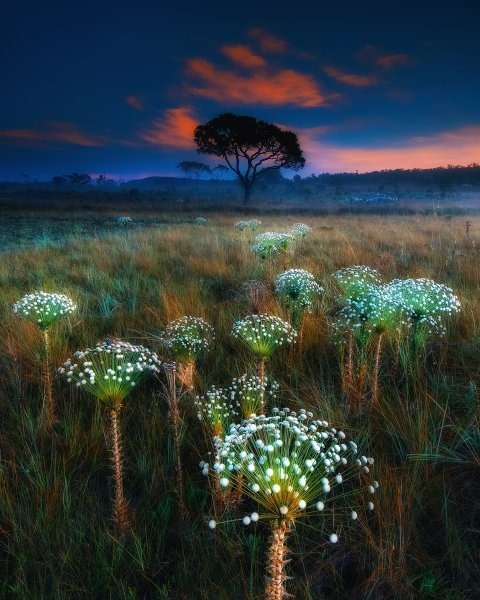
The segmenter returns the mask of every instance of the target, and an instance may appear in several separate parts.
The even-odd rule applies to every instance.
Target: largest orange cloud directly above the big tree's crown
[[[327,97],[313,77],[291,69],[241,75],[218,69],[203,58],[192,58],[187,63],[187,74],[201,82],[188,86],[191,94],[222,103],[291,104],[304,108],[327,104]]]

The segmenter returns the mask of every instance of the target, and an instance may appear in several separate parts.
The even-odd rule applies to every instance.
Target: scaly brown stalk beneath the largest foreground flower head
[[[266,600],[283,600],[287,597],[285,590],[285,565],[289,562],[285,559],[288,548],[285,545],[290,532],[291,522],[275,521],[272,524],[272,535],[270,536],[270,547],[268,549],[267,580],[265,585]]]

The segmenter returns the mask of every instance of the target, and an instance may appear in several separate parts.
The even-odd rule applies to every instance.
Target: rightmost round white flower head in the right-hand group
[[[445,333],[443,319],[460,310],[453,290],[431,279],[394,279],[385,289],[402,306],[409,325],[431,333]]]

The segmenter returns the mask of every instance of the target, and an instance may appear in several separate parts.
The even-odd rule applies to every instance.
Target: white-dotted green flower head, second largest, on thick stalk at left
[[[59,373],[69,383],[120,408],[132,389],[160,366],[157,355],[144,346],[107,339],[95,348],[75,352]]]

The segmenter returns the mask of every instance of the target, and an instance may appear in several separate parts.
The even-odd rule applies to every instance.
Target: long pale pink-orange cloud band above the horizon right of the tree
[[[322,142],[318,138],[318,128],[297,130],[297,133],[307,166],[316,173],[428,169],[478,162],[480,156],[480,125],[432,136],[412,137],[396,146],[375,148],[344,147]]]

